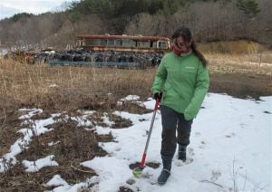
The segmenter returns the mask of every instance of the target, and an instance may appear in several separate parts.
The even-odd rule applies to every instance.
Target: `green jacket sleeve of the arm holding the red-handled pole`
[[[164,57],[160,62],[158,71],[156,72],[155,80],[153,82],[151,91],[153,93],[161,92],[166,78],[167,78],[167,71],[165,68],[165,57]]]

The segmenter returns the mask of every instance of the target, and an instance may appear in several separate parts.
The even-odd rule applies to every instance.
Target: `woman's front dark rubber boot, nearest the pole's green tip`
[[[172,156],[161,155],[163,168],[162,168],[162,170],[160,172],[160,176],[158,178],[159,185],[164,185],[166,183],[167,179],[170,177],[172,158],[173,158]]]

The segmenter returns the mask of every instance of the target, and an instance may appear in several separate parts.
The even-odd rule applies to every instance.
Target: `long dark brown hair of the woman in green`
[[[203,66],[206,67],[208,62],[205,59],[205,57],[203,56],[202,53],[199,52],[199,50],[197,49],[197,44],[194,41],[194,39],[192,38],[192,34],[189,30],[189,28],[187,27],[179,27],[174,34],[172,34],[172,39],[176,39],[179,36],[182,36],[184,42],[187,44],[187,46],[189,46],[189,43],[191,42],[191,49],[192,52],[195,53],[197,55],[197,57],[199,58],[199,60],[202,62]]]

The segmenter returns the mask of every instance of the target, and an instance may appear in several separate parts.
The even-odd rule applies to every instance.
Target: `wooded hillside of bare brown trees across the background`
[[[168,36],[188,26],[198,42],[250,39],[272,46],[271,0],[81,0],[65,11],[0,21],[0,45],[63,48],[78,34]]]

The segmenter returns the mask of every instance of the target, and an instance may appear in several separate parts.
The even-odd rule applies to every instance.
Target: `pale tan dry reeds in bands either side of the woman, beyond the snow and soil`
[[[262,55],[261,62],[272,63],[271,55]],[[260,58],[256,54],[205,53],[205,57],[209,60],[211,73],[244,72],[270,76],[272,73],[272,64],[259,64]],[[72,102],[93,101],[100,96],[109,96],[112,100],[127,94],[148,97],[155,72],[156,68],[57,67],[0,59],[0,111],[3,116],[3,111],[14,107],[62,105],[66,108]]]

